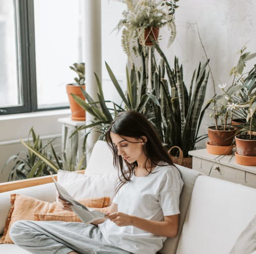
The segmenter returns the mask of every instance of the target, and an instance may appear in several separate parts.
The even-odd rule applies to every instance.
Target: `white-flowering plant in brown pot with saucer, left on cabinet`
[[[234,124],[233,117],[240,119],[241,122],[246,118],[245,107],[241,107],[242,103],[246,103],[247,100],[246,90],[243,89],[246,75],[243,69],[246,62],[253,59],[256,54],[245,53],[245,49],[246,47],[243,47],[240,50],[238,63],[230,71],[230,75],[234,77],[232,85],[225,91],[226,84],[220,84],[221,95],[216,96],[214,91],[214,98],[211,100],[214,103],[214,113],[210,116],[214,116],[215,125],[208,128],[209,142],[207,143],[207,150],[210,154],[231,154],[237,129],[238,127],[242,129],[244,126],[244,124]],[[219,120],[220,124],[218,124]]]

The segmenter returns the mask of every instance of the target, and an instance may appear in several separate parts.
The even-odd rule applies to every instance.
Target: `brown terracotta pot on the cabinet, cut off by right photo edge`
[[[256,135],[249,134],[236,136],[237,154],[243,156],[256,156]]]

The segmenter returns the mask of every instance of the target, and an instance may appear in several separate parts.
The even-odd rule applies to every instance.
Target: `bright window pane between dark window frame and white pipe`
[[[84,62],[84,5],[82,0],[34,0],[38,108],[68,105],[66,84]]]

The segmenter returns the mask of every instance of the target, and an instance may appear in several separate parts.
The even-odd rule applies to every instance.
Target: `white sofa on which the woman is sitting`
[[[106,143],[98,141],[85,173],[115,172],[112,159]],[[174,239],[167,239],[160,253],[228,254],[256,214],[256,189],[203,176],[180,166],[179,170],[185,182],[180,197],[179,234]],[[0,193],[0,235],[10,209],[11,193],[55,201],[55,187],[52,183]],[[28,252],[15,244],[0,244],[0,253]]]

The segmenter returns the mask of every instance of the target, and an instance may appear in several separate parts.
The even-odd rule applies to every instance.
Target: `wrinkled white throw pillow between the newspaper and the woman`
[[[117,184],[117,173],[110,175],[84,175],[77,172],[59,170],[57,181],[76,200],[88,197],[110,197],[111,202]]]

